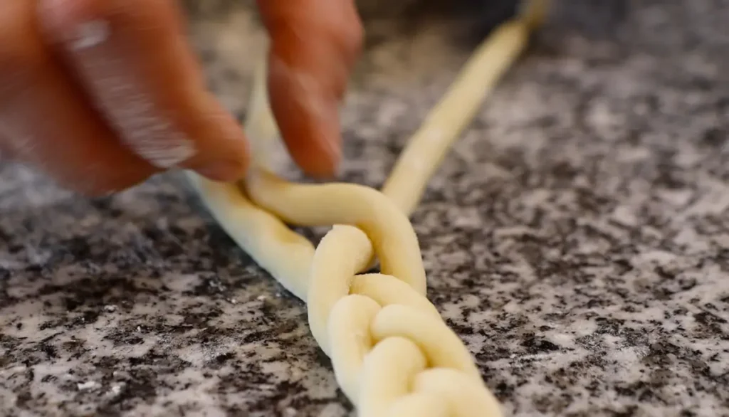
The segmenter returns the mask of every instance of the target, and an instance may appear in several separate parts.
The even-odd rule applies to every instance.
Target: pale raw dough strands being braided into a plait
[[[308,305],[308,322],[362,417],[501,416],[466,346],[426,298],[408,215],[451,143],[527,44],[543,1],[504,23],[470,58],[399,157],[382,192],[356,184],[294,184],[270,171],[278,131],[265,65],[246,130],[255,166],[241,184],[187,176],[219,225]],[[334,225],[316,249],[286,227]],[[373,260],[381,273],[363,274]]]

